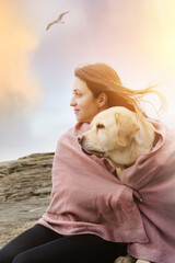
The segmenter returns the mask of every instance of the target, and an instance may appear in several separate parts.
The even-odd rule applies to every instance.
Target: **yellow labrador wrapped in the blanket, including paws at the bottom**
[[[98,113],[91,123],[91,129],[79,136],[78,141],[86,153],[108,160],[120,178],[126,167],[152,150],[156,130],[145,118],[139,118],[126,107],[115,106]],[[115,261],[131,262],[136,260],[130,255],[120,256]],[[137,263],[149,262],[138,260]]]

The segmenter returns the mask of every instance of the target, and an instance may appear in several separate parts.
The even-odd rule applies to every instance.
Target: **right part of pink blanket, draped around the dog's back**
[[[139,190],[138,202],[149,238],[128,245],[128,252],[158,263],[175,262],[175,130],[151,121],[162,135],[151,153],[141,156],[122,172],[121,181]]]

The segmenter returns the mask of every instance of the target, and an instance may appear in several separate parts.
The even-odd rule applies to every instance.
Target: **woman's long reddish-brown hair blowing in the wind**
[[[102,92],[106,93],[109,107],[125,106],[133,112],[143,113],[139,100],[148,93],[155,93],[161,100],[161,107],[164,108],[165,99],[159,91],[153,90],[154,87],[142,90],[128,89],[122,85],[117,72],[107,64],[97,62],[77,67],[74,76],[85,81],[95,98]]]

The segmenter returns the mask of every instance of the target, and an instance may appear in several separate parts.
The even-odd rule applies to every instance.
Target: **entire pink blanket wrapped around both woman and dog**
[[[175,262],[175,133],[153,124],[160,141],[124,171],[121,182],[104,159],[80,149],[77,136],[88,124],[68,130],[54,158],[51,203],[37,224],[62,235],[128,242],[136,258]],[[142,204],[133,201],[132,188],[141,193]]]

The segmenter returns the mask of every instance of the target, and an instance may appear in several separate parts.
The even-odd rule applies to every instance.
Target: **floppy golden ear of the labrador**
[[[126,147],[140,127],[132,114],[116,113],[115,118],[117,123],[117,144]]]

